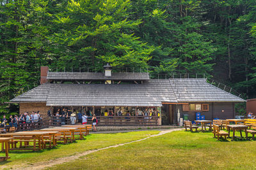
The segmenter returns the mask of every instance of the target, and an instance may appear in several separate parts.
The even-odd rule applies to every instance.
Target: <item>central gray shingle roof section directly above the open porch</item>
[[[168,80],[137,84],[52,84],[47,106],[162,106],[177,102]]]

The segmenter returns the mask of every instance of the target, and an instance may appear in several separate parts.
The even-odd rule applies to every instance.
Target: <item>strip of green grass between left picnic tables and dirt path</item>
[[[33,151],[10,151],[11,159],[0,162],[1,165],[19,165],[19,164],[33,164],[35,162],[43,162],[45,160],[56,159],[60,157],[67,157],[86,150],[95,150],[104,148],[119,143],[127,143],[138,139],[146,138],[151,134],[158,134],[159,131],[138,131],[138,132],[125,132],[115,134],[90,134],[84,140],[77,140],[75,143],[67,145],[58,145],[52,149],[45,149],[37,152]],[[0,156],[4,156],[0,152]],[[1,169],[1,168],[0,168]]]

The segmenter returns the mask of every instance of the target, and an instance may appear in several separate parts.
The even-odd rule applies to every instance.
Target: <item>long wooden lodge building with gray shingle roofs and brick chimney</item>
[[[128,110],[137,115],[138,109],[150,109],[156,112],[157,125],[177,124],[178,110],[180,117],[186,114],[189,120],[195,120],[196,112],[205,115],[205,120],[235,118],[234,104],[245,102],[205,78],[150,79],[148,73],[112,73],[108,64],[104,69],[104,73],[80,73],[50,72],[41,67],[41,85],[11,102],[20,104],[20,113],[40,111],[43,117],[58,108],[90,109],[97,116],[109,109],[116,115],[120,108],[123,115]],[[140,125],[140,121],[131,125]]]

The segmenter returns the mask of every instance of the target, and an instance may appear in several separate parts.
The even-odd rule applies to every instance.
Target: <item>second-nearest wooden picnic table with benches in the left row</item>
[[[10,143],[12,144],[10,150],[41,150],[42,144],[44,143],[44,135],[47,132],[15,132],[0,134],[0,137],[13,138]],[[38,148],[36,148],[36,141],[38,141]],[[17,143],[20,142],[19,148],[17,148]],[[24,142],[24,148],[22,147],[22,142]],[[33,142],[33,148],[28,148],[29,142]],[[27,147],[27,148],[25,148]]]

